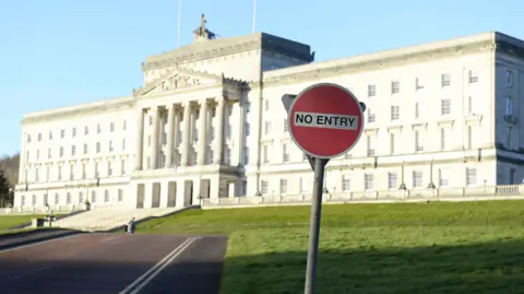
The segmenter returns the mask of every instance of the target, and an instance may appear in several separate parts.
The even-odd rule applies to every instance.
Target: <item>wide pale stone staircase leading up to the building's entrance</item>
[[[163,216],[187,208],[130,209],[100,207],[52,223],[53,227],[81,231],[108,231],[127,224],[132,217],[141,221],[151,216]]]

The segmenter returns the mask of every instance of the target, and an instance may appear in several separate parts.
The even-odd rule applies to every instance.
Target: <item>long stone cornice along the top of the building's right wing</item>
[[[358,73],[358,72],[366,72],[372,70],[381,70],[384,68],[392,68],[398,66],[406,66],[409,63],[419,63],[422,61],[431,61],[438,60],[443,58],[449,58],[453,56],[464,56],[464,55],[472,55],[483,51],[493,51],[498,46],[505,46],[502,45],[505,43],[497,43],[495,44],[491,39],[474,42],[469,44],[461,44],[444,48],[437,48],[430,50],[424,50],[419,52],[408,52],[408,54],[397,54],[390,57],[377,57],[370,58],[367,60],[341,60],[341,64],[333,64],[325,68],[318,68],[308,69],[309,64],[300,66],[305,67],[305,71],[289,73],[289,74],[282,74],[282,75],[274,75],[267,79],[263,79],[264,86],[277,86],[277,85],[285,85],[285,84],[293,84],[298,82],[307,82],[311,80],[318,79],[325,79],[329,77],[336,77],[342,74],[349,74],[349,73]],[[505,48],[505,47],[504,47]],[[516,51],[516,50],[515,50]],[[522,55],[524,56],[524,49],[522,49]],[[313,63],[314,64],[314,63]],[[319,63],[317,63],[319,64]],[[257,82],[252,83],[254,86]]]

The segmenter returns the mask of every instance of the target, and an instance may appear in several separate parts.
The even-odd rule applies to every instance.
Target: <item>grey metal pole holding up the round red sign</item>
[[[317,257],[319,255],[320,217],[322,213],[322,190],[326,160],[314,158],[313,197],[311,201],[311,221],[309,225],[308,263],[306,268],[305,294],[313,294],[317,274]]]

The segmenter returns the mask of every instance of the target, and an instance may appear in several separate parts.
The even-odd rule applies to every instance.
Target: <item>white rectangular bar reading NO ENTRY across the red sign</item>
[[[357,116],[295,111],[293,121],[298,127],[356,130]]]

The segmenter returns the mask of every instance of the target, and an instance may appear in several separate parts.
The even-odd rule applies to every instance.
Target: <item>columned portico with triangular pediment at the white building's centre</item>
[[[240,133],[231,137],[230,125],[243,126],[242,115],[233,116],[233,109],[243,111],[242,83],[177,68],[134,93],[133,203],[186,207],[200,198],[235,196],[239,165],[231,158],[240,155],[231,153],[242,152],[235,141],[243,140]]]

